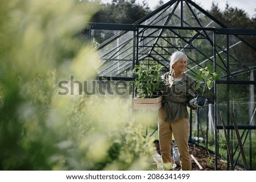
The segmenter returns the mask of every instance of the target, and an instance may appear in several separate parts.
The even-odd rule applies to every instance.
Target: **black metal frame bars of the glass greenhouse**
[[[184,20],[184,12],[183,12],[183,6],[184,3],[187,5],[187,7],[189,8],[189,10],[192,12],[192,15],[195,17],[196,22],[199,24],[199,27],[192,27],[188,22],[186,22]],[[180,5],[180,16],[177,14],[174,14],[175,10],[177,9],[177,6]],[[145,22],[146,20],[153,18],[153,17],[159,17],[161,13],[164,13],[168,8],[172,7],[173,9],[171,11],[170,14],[167,14],[166,16],[164,16],[164,18],[166,18],[164,20],[164,18],[162,18],[161,20],[164,20],[163,25],[159,26],[156,24],[142,24],[143,22]],[[201,13],[205,14],[209,19],[213,20],[214,23],[217,23],[220,27],[214,28],[214,27],[203,27],[202,23],[200,22],[200,19],[197,17],[196,13],[192,10],[193,6],[195,9],[199,10]],[[175,16],[176,19],[180,20],[180,25],[177,26],[168,26],[168,20],[171,19],[171,16]],[[151,22],[153,22],[154,19],[151,20]],[[160,20],[159,20],[160,22]],[[157,23],[157,22],[156,22]],[[93,49],[93,51],[98,51],[102,48],[104,48],[105,46],[107,46],[108,44],[114,42],[115,40],[117,40],[118,38],[120,38],[122,35],[125,35],[127,32],[129,31],[133,31],[133,36],[131,36],[129,39],[126,40],[126,42],[122,42],[121,44],[119,44],[120,47],[124,48],[125,46],[127,46],[130,42],[133,42],[132,46],[127,47],[126,49],[123,49],[121,53],[118,53],[118,55],[121,55],[123,52],[126,52],[127,49],[132,49],[133,51],[131,51],[131,53],[129,55],[127,55],[126,57],[123,57],[121,60],[117,59],[117,57],[113,57],[113,55],[111,55],[108,58],[102,58],[103,63],[102,65],[105,65],[107,63],[110,63],[110,61],[122,61],[122,70],[126,70],[126,69],[131,69],[134,68],[134,65],[139,64],[139,62],[143,59],[145,59],[146,57],[150,57],[151,59],[155,60],[157,63],[162,64],[165,68],[165,71],[168,71],[168,59],[166,58],[166,56],[170,56],[170,52],[168,52],[168,48],[172,47],[175,49],[194,49],[197,52],[199,52],[201,55],[203,55],[204,57],[206,57],[206,59],[204,61],[201,61],[200,63],[198,63],[198,61],[193,60],[192,57],[188,58],[192,61],[193,64],[195,64],[193,67],[188,67],[190,73],[195,73],[193,71],[193,68],[195,68],[196,66],[200,66],[205,63],[206,61],[211,61],[213,63],[214,66],[214,71],[216,72],[216,68],[217,66],[219,68],[221,68],[222,70],[224,70],[227,73],[226,76],[226,80],[218,80],[216,82],[214,82],[214,126],[215,126],[215,155],[218,155],[218,130],[222,130],[223,127],[221,125],[218,125],[218,113],[217,113],[217,102],[216,102],[216,98],[217,98],[217,92],[216,92],[216,88],[218,84],[253,84],[256,85],[256,81],[233,81],[233,80],[229,80],[229,75],[230,70],[229,70],[229,59],[236,59],[234,57],[232,57],[232,55],[229,54],[229,49],[232,47],[232,45],[229,45],[229,37],[230,35],[235,36],[237,39],[239,39],[241,42],[245,43],[247,46],[249,46],[250,48],[252,48],[255,52],[256,52],[256,47],[252,44],[250,44],[249,42],[247,42],[246,40],[242,39],[240,35],[253,35],[256,36],[256,31],[255,30],[249,30],[249,29],[237,29],[237,28],[227,28],[224,24],[222,24],[221,22],[219,22],[217,19],[215,19],[212,15],[210,15],[207,11],[205,11],[204,9],[202,9],[200,6],[196,5],[196,3],[192,2],[191,0],[172,0],[167,2],[166,4],[164,4],[163,6],[159,7],[159,9],[153,11],[152,13],[148,14],[147,16],[144,16],[144,18],[138,20],[137,22],[135,22],[134,24],[108,24],[108,23],[88,23],[88,30],[89,30],[89,39],[91,41],[92,39],[92,30],[118,30],[120,31],[118,34],[114,35],[112,38],[106,40],[104,43],[100,44],[100,46],[96,47]],[[146,34],[147,30],[152,30],[152,32],[148,35],[144,35]],[[163,31],[166,30],[168,33],[173,34],[173,36],[164,36],[163,35]],[[195,31],[196,34],[194,36],[191,37],[184,37],[182,35],[180,35],[180,31]],[[158,34],[158,35],[154,35],[154,34]],[[227,48],[224,49],[220,46],[218,46],[218,44],[216,43],[216,35],[226,35],[227,36]],[[175,46],[174,44],[172,44],[170,41],[168,41],[168,38],[179,38],[182,42],[185,43],[185,46],[181,45],[180,47]],[[146,44],[141,44],[144,40],[146,39],[152,39],[150,41],[148,41]],[[170,45],[170,47],[164,47],[158,44],[158,39],[162,39],[164,40],[168,45]],[[188,40],[189,39],[189,40]],[[208,55],[206,55],[204,52],[201,52],[196,46],[193,46],[193,41],[196,39],[205,39],[208,40],[208,42],[212,45],[213,51],[212,51],[212,56],[209,57]],[[152,44],[150,44],[151,42],[154,42]],[[161,48],[163,50],[163,54],[162,53],[158,53],[155,51],[155,48]],[[227,61],[225,64],[225,61],[221,58],[220,56],[220,52],[217,51],[217,48],[221,50],[221,52],[225,52],[227,55]],[[106,52],[102,57],[109,55],[110,53],[114,52],[113,48],[112,50]],[[142,49],[147,49],[148,53],[145,53],[143,51],[141,51]],[[127,58],[130,56],[130,59]],[[159,56],[160,59],[157,57]],[[222,67],[221,65],[217,64],[217,56],[218,58],[220,58],[221,63],[224,65],[224,67]],[[127,59],[126,59],[127,58]],[[239,60],[238,60],[239,61]],[[127,64],[127,62],[130,62],[129,64]],[[105,72],[99,72],[99,79],[106,79],[106,80],[126,80],[126,81],[132,81],[134,80],[134,78],[132,76],[130,77],[119,77],[117,76],[111,76],[112,73],[114,73],[116,70],[112,67],[114,67],[115,62],[110,64],[108,67],[108,71]],[[99,67],[101,68],[101,67]],[[253,68],[255,69],[255,68]],[[106,73],[106,75],[101,75],[101,73]],[[234,74],[234,73],[233,73]],[[196,75],[196,73],[195,73]],[[224,78],[224,77],[222,77]],[[228,104],[229,106],[229,104]],[[208,121],[207,121],[208,122]],[[191,112],[191,124],[192,124],[192,112]],[[200,122],[198,122],[198,137],[199,137],[199,126]],[[229,121],[228,121],[228,125],[225,126],[226,129],[233,130],[233,126],[230,125]],[[256,126],[249,126],[249,125],[238,125],[238,129],[241,130],[255,130]],[[207,128],[208,131],[208,128]],[[192,133],[192,131],[191,131]],[[229,136],[230,137],[230,136]],[[190,138],[191,140],[191,138]],[[199,142],[197,142],[197,144],[199,144]],[[206,147],[208,146],[208,135],[207,135],[207,142],[206,142]],[[250,160],[251,160],[252,156],[250,156]],[[215,166],[216,166],[216,170],[217,170],[217,158],[215,160]],[[242,166],[242,165],[241,165]],[[250,163],[251,166],[251,163]],[[229,168],[228,168],[229,169]]]

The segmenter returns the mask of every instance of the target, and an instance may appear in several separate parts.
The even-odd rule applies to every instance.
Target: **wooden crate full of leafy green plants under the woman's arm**
[[[134,87],[136,97],[133,99],[134,109],[159,109],[162,106],[161,65],[144,67],[135,65]]]

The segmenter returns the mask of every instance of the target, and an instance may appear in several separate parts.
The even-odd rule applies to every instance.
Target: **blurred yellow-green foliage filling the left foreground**
[[[70,75],[96,78],[97,54],[79,36],[96,10],[89,1],[0,2],[0,170],[152,169],[148,118],[138,122],[131,101],[57,94]]]

